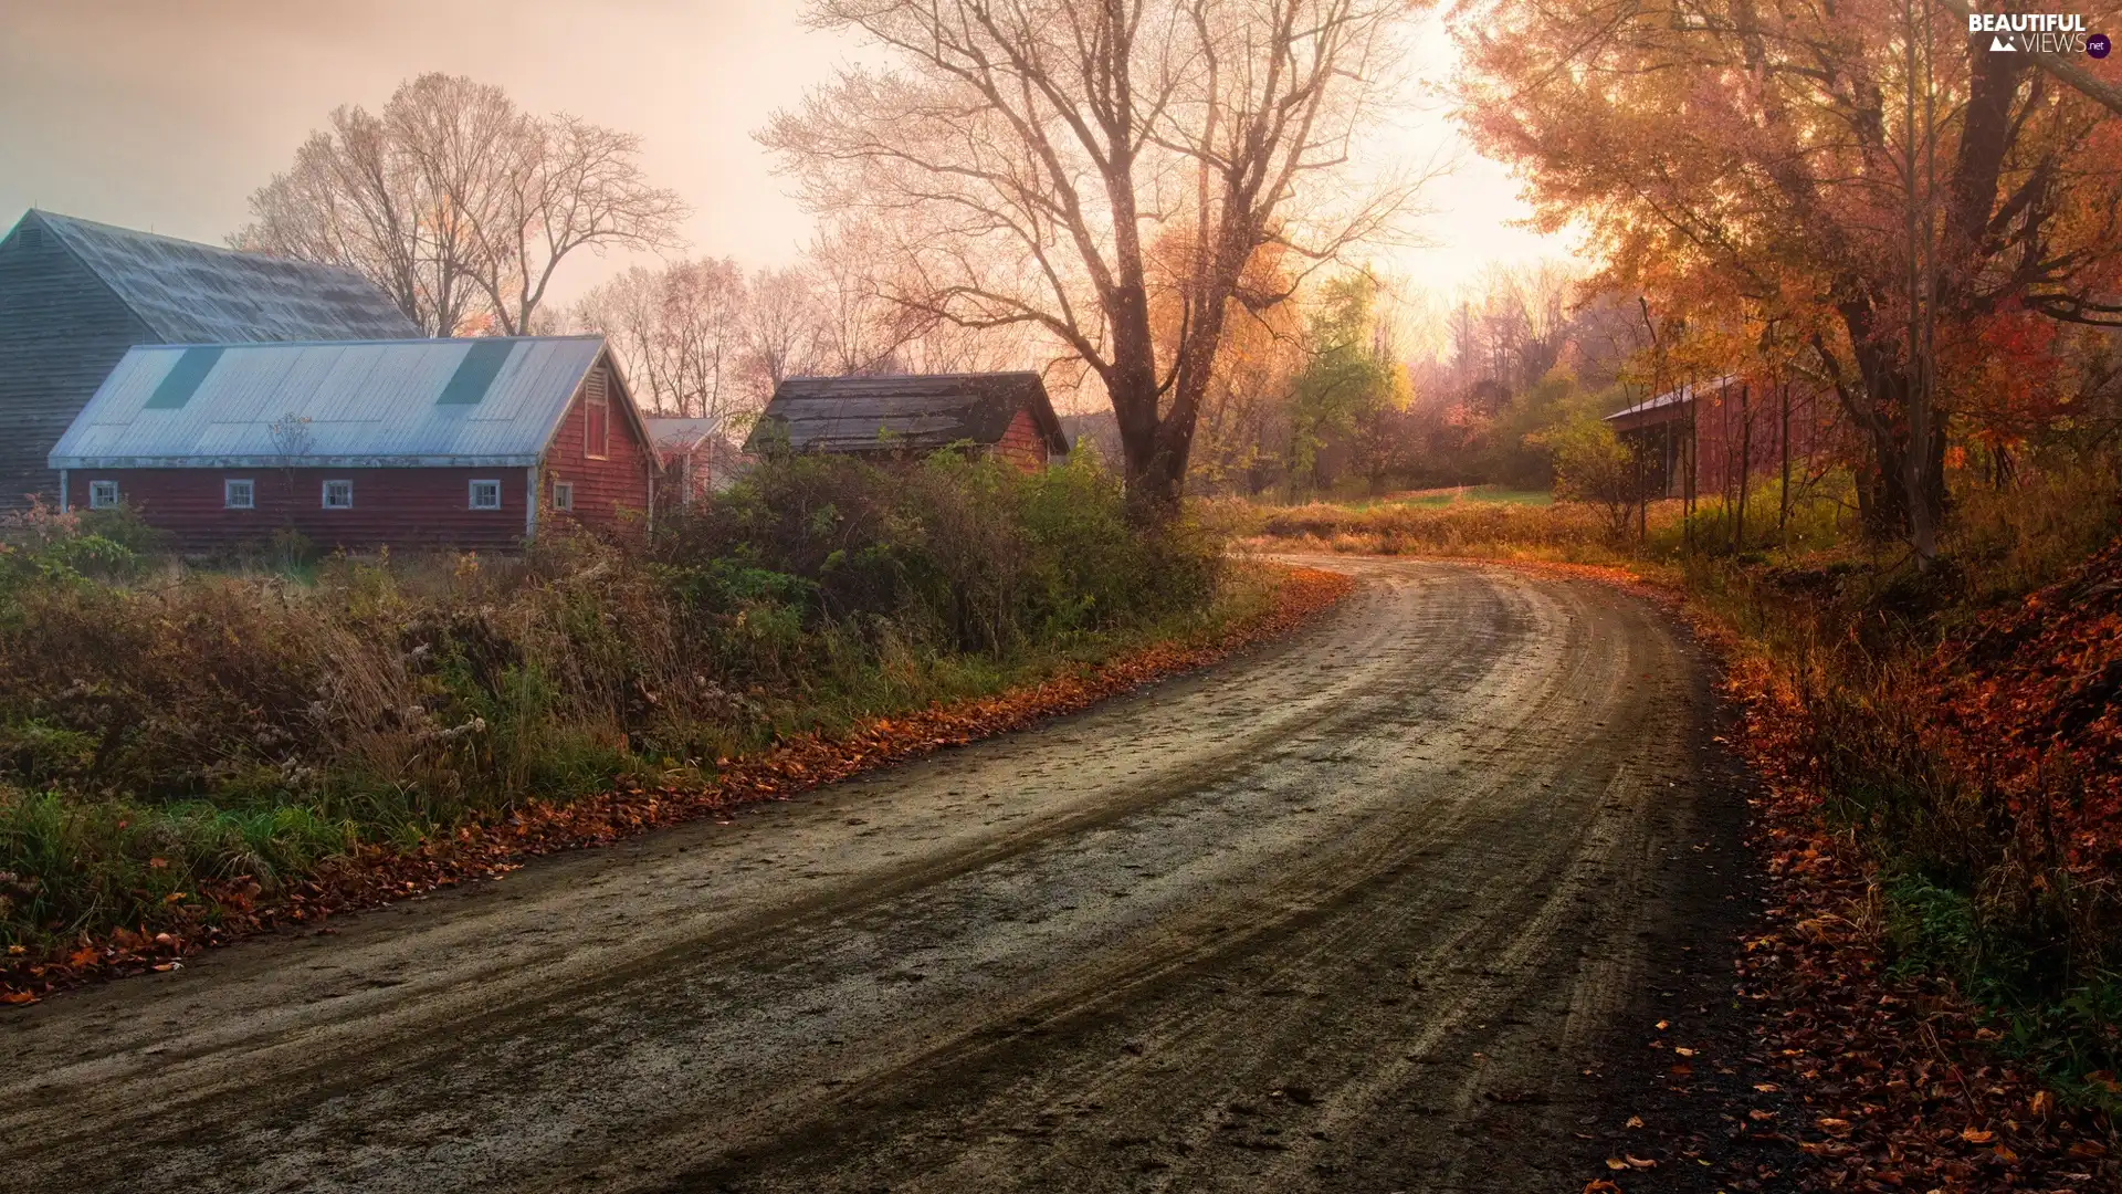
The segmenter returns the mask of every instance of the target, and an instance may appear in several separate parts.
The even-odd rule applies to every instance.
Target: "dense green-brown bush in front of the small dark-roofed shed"
[[[1190,523],[1131,527],[1118,480],[1089,459],[1023,474],[953,453],[779,457],[671,518],[658,559],[721,603],[711,614],[792,608],[804,625],[889,622],[929,648],[1004,656],[1203,603],[1220,542]]]

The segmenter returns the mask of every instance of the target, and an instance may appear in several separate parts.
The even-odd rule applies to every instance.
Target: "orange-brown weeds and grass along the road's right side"
[[[1872,875],[1844,909],[1903,977],[1948,979],[2058,1092],[2122,1088],[2122,491],[2109,459],[1967,484],[1918,574],[1867,546],[1836,487],[1778,527],[1655,504],[1628,535],[1583,504],[1377,504],[1216,514],[1271,548],[1625,567],[1723,639],[1780,778]],[[1638,533],[1642,535],[1638,540]],[[1689,544],[1691,540],[1691,544]],[[1691,548],[1691,550],[1689,550]],[[2103,552],[2105,548],[2105,552]]]

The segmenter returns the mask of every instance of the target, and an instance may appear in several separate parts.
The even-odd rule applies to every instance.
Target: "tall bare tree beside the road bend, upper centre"
[[[1246,263],[1328,261],[1413,183],[1345,166],[1390,89],[1398,0],[817,0],[893,68],[842,70],[762,140],[823,212],[902,229],[900,306],[1036,327],[1112,402],[1129,489],[1178,499]],[[1182,232],[1159,342],[1146,244]],[[1169,266],[1165,266],[1169,268]],[[1297,280],[1303,272],[1297,272]]]

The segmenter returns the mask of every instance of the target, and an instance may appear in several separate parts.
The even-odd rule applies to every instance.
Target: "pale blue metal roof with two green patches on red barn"
[[[603,336],[140,346],[49,467],[535,465],[603,355]]]

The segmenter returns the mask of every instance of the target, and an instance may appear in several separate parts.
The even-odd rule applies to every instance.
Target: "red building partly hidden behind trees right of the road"
[[[1838,442],[1840,408],[1810,385],[1746,376],[1693,382],[1638,402],[1606,423],[1642,453],[1653,495],[1685,497],[1689,465],[1698,497],[1736,493],[1740,476],[1780,476],[1785,440],[1793,480]]]

